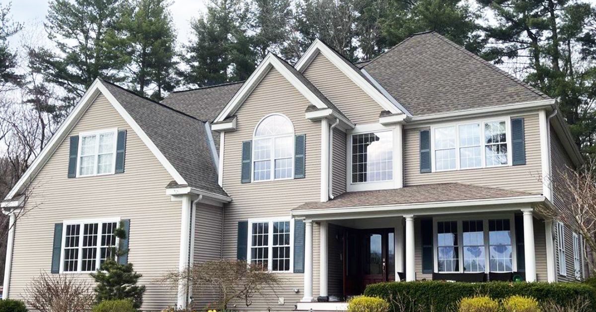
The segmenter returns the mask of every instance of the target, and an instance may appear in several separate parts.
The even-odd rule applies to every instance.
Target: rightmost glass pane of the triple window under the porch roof
[[[489,220],[488,230],[491,272],[513,271],[513,249],[511,247],[510,220]]]

